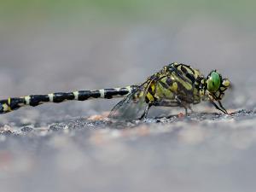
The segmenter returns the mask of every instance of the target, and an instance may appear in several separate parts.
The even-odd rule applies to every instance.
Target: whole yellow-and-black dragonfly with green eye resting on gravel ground
[[[222,78],[217,70],[205,77],[198,69],[183,63],[172,62],[154,73],[142,84],[102,90],[55,92],[46,95],[9,97],[0,101],[0,113],[9,113],[25,106],[36,107],[46,102],[85,101],[123,97],[108,117],[113,119],[144,119],[151,107],[180,107],[192,113],[192,105],[211,102],[222,113],[228,114],[221,100],[230,80]]]

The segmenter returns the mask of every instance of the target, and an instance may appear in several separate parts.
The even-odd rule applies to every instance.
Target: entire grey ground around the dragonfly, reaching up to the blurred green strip
[[[180,112],[170,108],[126,123],[92,116],[118,100],[3,114],[1,191],[255,191],[253,27],[205,15],[172,24],[57,24],[2,30],[1,98],[134,84],[177,61],[228,77],[231,114],[202,104],[187,118],[150,118]]]

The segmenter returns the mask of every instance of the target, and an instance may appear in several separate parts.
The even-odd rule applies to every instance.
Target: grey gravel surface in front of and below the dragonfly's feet
[[[255,112],[1,128],[3,191],[254,191]]]

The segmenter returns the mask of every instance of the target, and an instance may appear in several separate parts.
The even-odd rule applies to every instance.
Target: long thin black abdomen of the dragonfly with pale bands
[[[23,106],[38,106],[45,102],[65,102],[68,100],[84,101],[95,98],[112,99],[124,97],[131,93],[137,86],[131,85],[124,88],[111,88],[102,90],[79,90],[74,92],[59,92],[47,95],[32,95],[9,98],[0,101],[0,113],[9,113]]]

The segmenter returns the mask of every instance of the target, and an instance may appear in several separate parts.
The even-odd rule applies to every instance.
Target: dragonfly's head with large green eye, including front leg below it
[[[224,91],[227,90],[230,86],[229,79],[223,79],[221,74],[216,70],[212,71],[207,76],[207,92],[210,98],[210,101],[215,106],[224,113],[227,113],[226,109],[222,106],[221,100],[224,97]],[[217,101],[219,106],[216,105],[214,101]]]

